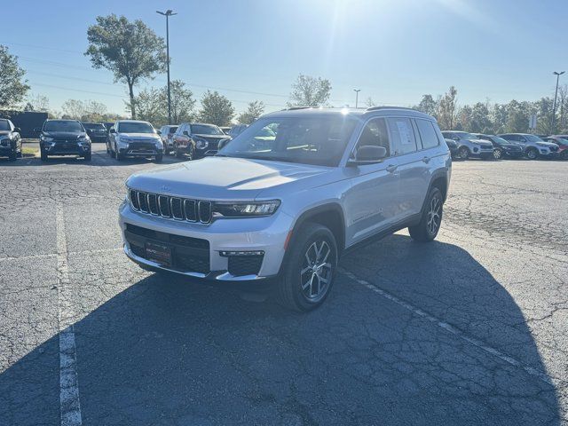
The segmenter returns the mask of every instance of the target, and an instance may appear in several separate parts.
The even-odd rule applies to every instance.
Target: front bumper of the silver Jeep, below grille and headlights
[[[277,211],[271,217],[217,219],[206,225],[139,213],[124,201],[119,209],[119,224],[124,253],[143,267],[204,280],[257,281],[273,278],[280,272],[285,253],[284,243],[292,228],[293,218]],[[150,236],[138,233],[133,238],[131,230],[138,227],[149,230],[146,234]],[[207,244],[195,248],[182,240],[207,241]],[[171,258],[174,259],[170,264],[161,264],[146,256],[147,243],[164,241],[170,246]],[[251,251],[264,252],[254,273],[235,273],[231,262],[235,262],[234,257],[237,256],[221,255],[221,252]],[[192,252],[197,254],[191,257]],[[177,261],[177,256],[186,257]],[[197,258],[198,256],[201,257]]]

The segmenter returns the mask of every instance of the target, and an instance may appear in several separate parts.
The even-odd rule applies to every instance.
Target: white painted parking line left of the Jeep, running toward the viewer
[[[75,330],[73,327],[72,292],[69,280],[67,236],[63,206],[56,201],[57,228],[57,274],[59,311],[59,412],[62,426],[82,424],[79,403],[79,382],[77,379],[77,356],[75,351]]]

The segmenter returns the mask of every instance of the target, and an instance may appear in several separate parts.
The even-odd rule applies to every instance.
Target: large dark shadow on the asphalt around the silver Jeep
[[[546,372],[515,301],[462,248],[397,234],[343,268]],[[116,270],[97,273],[77,285],[112,293]],[[554,386],[344,275],[299,314],[152,274],[79,319],[75,343],[84,424],[560,424]],[[59,415],[57,348],[0,375],[0,424]]]

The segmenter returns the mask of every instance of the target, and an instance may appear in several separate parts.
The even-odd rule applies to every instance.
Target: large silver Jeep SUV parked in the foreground
[[[451,167],[436,121],[411,109],[266,114],[216,156],[130,176],[124,252],[152,271],[271,283],[308,311],[346,250],[406,227],[436,237]]]

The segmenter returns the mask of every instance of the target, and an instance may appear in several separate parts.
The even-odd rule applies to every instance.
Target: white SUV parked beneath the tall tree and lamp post
[[[115,122],[109,130],[106,144],[106,151],[119,162],[126,157],[154,157],[155,162],[162,162],[162,139],[149,122]]]

